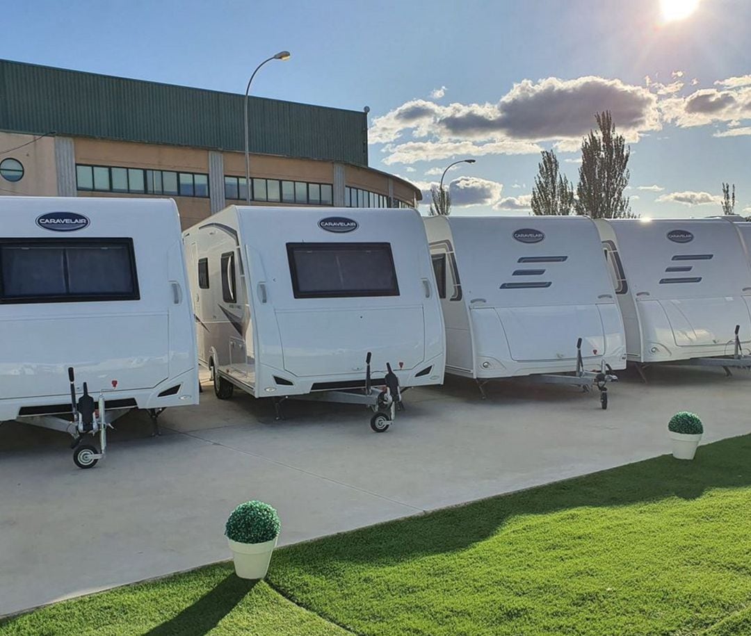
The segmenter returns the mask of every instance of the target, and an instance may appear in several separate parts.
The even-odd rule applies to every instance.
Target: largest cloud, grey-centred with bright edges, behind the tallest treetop
[[[632,143],[661,127],[657,96],[644,87],[595,76],[548,77],[515,83],[496,104],[407,101],[372,120],[369,140],[388,144],[386,164],[448,158],[461,149],[470,156],[526,154],[539,152],[542,140],[574,152],[595,128],[594,113],[602,110],[611,111],[618,131]],[[411,140],[404,141],[406,135]],[[425,156],[416,155],[422,151]]]

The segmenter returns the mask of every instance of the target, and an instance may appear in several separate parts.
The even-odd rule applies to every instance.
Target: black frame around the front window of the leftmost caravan
[[[120,301],[140,300],[138,285],[138,270],[136,267],[135,250],[131,237],[50,237],[50,238],[12,238],[0,239],[0,252],[3,246],[56,247],[65,249],[66,246],[125,246],[128,252],[133,291],[129,294],[55,294],[48,296],[5,296],[3,289],[2,258],[0,258],[0,305],[35,305],[39,303],[111,303]],[[65,261],[67,267],[67,261]],[[65,271],[65,280],[68,272]]]

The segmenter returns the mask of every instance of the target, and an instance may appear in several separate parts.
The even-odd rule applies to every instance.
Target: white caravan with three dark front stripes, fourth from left
[[[626,351],[648,363],[745,367],[751,269],[725,219],[596,221],[626,328]]]

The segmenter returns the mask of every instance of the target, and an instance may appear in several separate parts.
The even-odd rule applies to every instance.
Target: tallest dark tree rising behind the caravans
[[[623,135],[616,134],[609,110],[595,115],[598,131],[581,142],[581,167],[576,188],[576,213],[593,219],[634,219],[629,197],[629,156]]]

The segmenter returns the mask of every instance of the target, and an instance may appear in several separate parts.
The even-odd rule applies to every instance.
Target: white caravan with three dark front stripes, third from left
[[[517,375],[597,384],[607,408],[605,382],[626,366],[626,342],[593,222],[435,216],[425,225],[446,371],[475,378],[483,396],[488,380]]]

